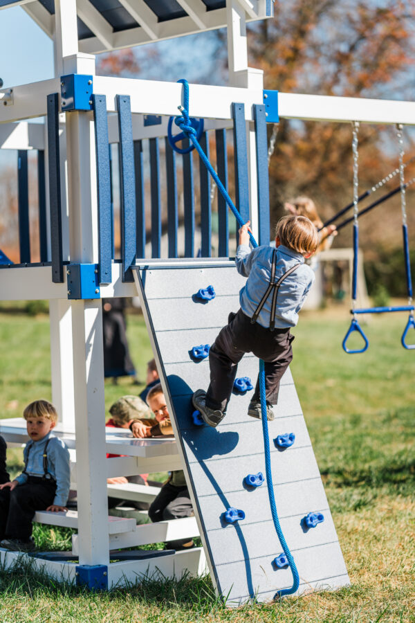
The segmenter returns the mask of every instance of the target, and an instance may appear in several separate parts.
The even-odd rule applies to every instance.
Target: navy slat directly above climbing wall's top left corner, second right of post
[[[136,183],[134,179],[133,126],[129,96],[117,96],[120,136],[121,260],[122,280],[131,281],[136,263]]]

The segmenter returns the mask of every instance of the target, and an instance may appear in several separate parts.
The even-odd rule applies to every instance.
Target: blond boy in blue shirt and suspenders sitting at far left
[[[57,413],[47,400],[24,410],[30,441],[24,449],[24,471],[0,485],[0,547],[33,550],[32,521],[38,510],[66,511],[71,472],[69,451],[52,431]]]

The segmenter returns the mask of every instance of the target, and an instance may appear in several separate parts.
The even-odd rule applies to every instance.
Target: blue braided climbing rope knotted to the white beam
[[[239,223],[239,225],[243,226],[245,223],[243,222],[243,219],[241,218],[241,215],[239,214],[237,207],[234,206],[234,203],[232,199],[230,198],[230,196],[228,195],[227,190],[223,186],[223,183],[219,179],[218,175],[216,174],[216,171],[210,164],[210,161],[206,157],[205,152],[203,152],[201,146],[199,145],[199,141],[196,138],[196,130],[192,126],[190,122],[190,117],[189,117],[189,83],[187,82],[187,80],[178,80],[178,82],[181,82],[183,84],[183,106],[181,107],[182,116],[177,116],[174,119],[174,123],[178,127],[180,127],[181,131],[184,132],[184,134],[190,139],[190,141],[192,141],[196,149],[196,152],[198,152],[199,156],[201,157],[201,160],[203,161],[203,164],[210,172],[223,199],[225,199],[230,210],[232,210],[232,213],[234,214],[234,217],[237,219],[237,222]],[[172,148],[175,149],[175,145],[173,141],[170,141],[170,145],[172,145]],[[257,244],[257,241],[255,240],[255,237],[252,235],[251,232],[249,232],[249,237],[250,237],[252,246],[256,248],[258,244]],[[286,555],[286,558],[288,560],[288,564],[291,568],[291,572],[293,573],[293,586],[291,588],[282,588],[282,590],[278,590],[275,595],[275,597],[283,597],[284,595],[292,595],[293,593],[297,592],[298,587],[299,587],[299,575],[298,575],[297,567],[295,566],[295,561],[293,559],[293,556],[288,548],[288,545],[284,538],[284,534],[282,533],[282,528],[279,523],[279,518],[278,518],[278,513],[277,513],[277,506],[275,505],[273,475],[271,473],[268,417],[266,413],[265,368],[264,368],[264,361],[262,361],[262,359],[259,359],[259,390],[260,390],[260,397],[261,397],[262,430],[264,433],[266,483],[268,486],[268,497],[270,500],[271,514],[273,516],[275,531],[277,532],[279,541],[282,545],[282,549],[284,550],[284,554]]]

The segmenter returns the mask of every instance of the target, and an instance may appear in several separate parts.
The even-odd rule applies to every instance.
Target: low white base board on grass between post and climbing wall
[[[134,586],[144,578],[176,577],[183,575],[196,577],[204,575],[206,558],[203,548],[194,548],[188,552],[176,552],[172,556],[162,556],[142,561],[119,561],[111,563],[108,568],[109,588],[118,586]]]

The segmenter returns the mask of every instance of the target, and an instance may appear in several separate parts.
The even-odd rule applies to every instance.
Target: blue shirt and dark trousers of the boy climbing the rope
[[[277,403],[279,382],[293,359],[290,327],[297,324],[298,311],[314,281],[302,254],[283,245],[251,250],[241,244],[235,263],[238,272],[248,277],[239,293],[241,309],[230,314],[228,325],[221,329],[209,352],[210,386],[205,404],[222,413],[228,406],[237,365],[246,352],[264,360],[266,400]],[[273,296],[273,289],[268,290],[270,283],[284,276]],[[252,401],[259,399],[258,380]]]

